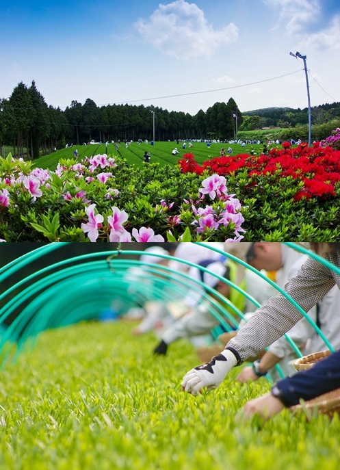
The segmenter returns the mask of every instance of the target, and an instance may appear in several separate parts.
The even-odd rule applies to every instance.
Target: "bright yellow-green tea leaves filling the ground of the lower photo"
[[[180,389],[197,365],[190,343],[153,357],[132,324],[83,323],[44,332],[0,380],[0,468],[13,470],[339,469],[338,417],[288,410],[259,428],[235,419],[264,378],[198,397]]]

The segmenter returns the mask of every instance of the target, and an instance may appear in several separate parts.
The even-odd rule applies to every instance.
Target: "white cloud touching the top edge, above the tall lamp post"
[[[287,34],[300,33],[304,27],[317,23],[319,0],[263,0],[266,5],[280,8],[280,21],[285,22]]]

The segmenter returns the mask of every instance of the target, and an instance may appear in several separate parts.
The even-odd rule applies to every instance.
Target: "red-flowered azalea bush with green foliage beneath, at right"
[[[264,148],[261,155],[218,157],[198,165],[192,154],[183,173],[218,174],[241,201],[244,241],[335,241],[340,231],[340,129],[309,147]]]

